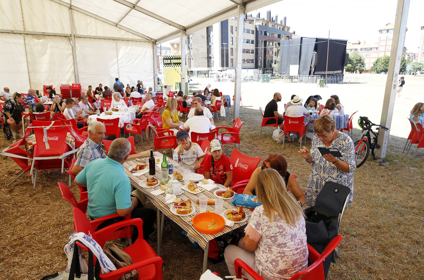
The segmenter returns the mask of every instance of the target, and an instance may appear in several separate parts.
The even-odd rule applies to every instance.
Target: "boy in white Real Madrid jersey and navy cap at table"
[[[204,160],[204,153],[197,143],[192,143],[189,140],[187,131],[179,130],[177,132],[177,147],[178,158],[183,167],[192,170],[198,170]]]

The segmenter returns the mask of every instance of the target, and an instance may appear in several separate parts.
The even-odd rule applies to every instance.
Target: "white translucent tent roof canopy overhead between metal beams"
[[[162,43],[190,34],[237,15],[279,0],[52,0],[61,5],[115,25],[151,42]]]

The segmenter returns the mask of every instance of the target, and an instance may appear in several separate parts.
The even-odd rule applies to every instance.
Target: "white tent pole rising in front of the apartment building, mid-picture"
[[[235,85],[234,85],[234,112],[233,119],[240,117],[240,92],[241,92],[241,66],[242,66],[242,51],[243,51],[243,27],[244,27],[244,5],[238,5],[237,13],[237,67],[235,68]]]

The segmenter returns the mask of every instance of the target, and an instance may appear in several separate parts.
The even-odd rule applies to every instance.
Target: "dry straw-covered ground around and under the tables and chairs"
[[[286,144],[282,149],[281,144],[271,139],[271,127],[265,128],[259,138],[259,110],[243,107],[240,115],[246,121],[241,130],[241,151],[262,158],[270,153],[283,154],[290,173],[298,175],[299,185],[304,189],[311,168],[298,156],[298,146]],[[232,125],[231,115],[218,125]],[[354,140],[359,136],[360,131],[355,130]],[[136,150],[151,147],[141,147],[137,139]],[[391,137],[390,141],[386,158],[389,165],[382,167],[369,159],[354,173],[353,206],[345,212],[340,228],[344,236],[338,246],[342,258],[330,267],[329,280],[424,279],[423,152],[412,160],[399,150],[405,139]],[[0,148],[9,144],[11,141],[1,141]],[[230,156],[232,149],[232,145],[226,145],[224,153]],[[32,189],[28,175],[6,187],[18,167],[10,158],[0,158],[0,278],[40,279],[63,271],[67,263],[63,247],[73,232],[73,218],[72,207],[61,198],[57,182],[66,183],[68,177],[59,170],[48,170],[39,172],[36,190]],[[78,198],[74,184],[71,190]],[[152,204],[148,206],[153,208]],[[186,238],[178,235],[180,232],[175,223],[165,221],[164,279],[199,279],[203,250],[194,249]],[[149,242],[156,249],[156,236]],[[220,276],[228,274],[225,262],[208,263],[208,267]]]

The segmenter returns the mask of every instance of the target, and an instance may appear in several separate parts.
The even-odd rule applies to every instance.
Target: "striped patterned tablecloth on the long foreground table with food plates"
[[[162,158],[162,154],[159,152],[154,152],[154,156],[155,158]],[[168,162],[172,162],[172,158],[167,158]],[[190,192],[186,192],[183,190],[183,192],[181,193],[181,195],[177,195],[177,197],[181,198],[182,200],[186,201],[188,198],[190,198],[191,201],[193,201],[192,205],[195,207],[196,211],[189,216],[178,216],[175,215],[171,212],[170,210],[170,204],[165,204],[165,193],[161,194],[161,195],[152,195],[150,192],[153,190],[157,190],[160,189],[159,186],[157,187],[153,187],[153,188],[142,188],[139,186],[138,182],[142,181],[144,179],[148,179],[151,178],[152,176],[149,175],[148,173],[142,176],[134,176],[133,173],[130,172],[129,168],[135,164],[139,164],[138,161],[132,160],[132,161],[127,161],[123,164],[124,168],[125,168],[125,173],[128,175],[128,177],[130,178],[131,181],[131,185],[134,186],[135,188],[139,189],[141,192],[143,192],[151,201],[154,205],[156,205],[156,207],[158,207],[160,209],[160,211],[162,211],[168,218],[170,218],[172,221],[176,222],[179,226],[181,226],[181,228],[183,228],[190,237],[194,238],[197,243],[199,243],[199,245],[205,249],[206,248],[206,244],[208,243],[209,240],[212,240],[220,235],[223,235],[224,233],[227,232],[231,232],[234,229],[239,228],[240,226],[244,226],[245,224],[248,223],[248,220],[244,221],[243,223],[234,223],[234,226],[229,227],[229,226],[224,226],[224,228],[215,234],[204,234],[201,232],[198,232],[197,229],[194,228],[193,224],[192,224],[192,218],[199,214],[199,204],[196,203],[195,201],[199,198],[200,195],[205,195],[208,198],[217,198],[214,195],[214,191],[215,189],[212,189],[212,191],[208,191],[208,190],[204,190],[203,192],[200,192],[199,194],[192,194]],[[190,172],[192,173],[192,171],[184,168],[181,166],[181,164],[174,164],[174,172],[175,171],[179,171],[181,174],[183,174],[184,172]],[[160,165],[156,164],[156,175],[154,175],[154,177],[160,182],[162,181],[160,178]],[[181,185],[184,185],[183,182],[181,182]],[[220,184],[216,184],[217,188],[225,188]],[[208,205],[207,206],[207,211],[209,210],[214,210],[215,205]],[[234,206],[233,204],[231,204],[231,200],[224,200],[224,206],[223,209],[230,209],[230,208],[237,208],[237,206]],[[250,217],[251,215],[251,211],[246,209],[245,213],[248,217]]]

